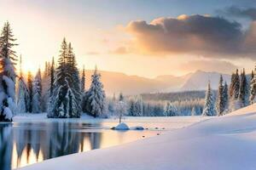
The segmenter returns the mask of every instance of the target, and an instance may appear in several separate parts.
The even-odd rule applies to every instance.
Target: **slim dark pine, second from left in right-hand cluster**
[[[220,75],[219,83],[218,83],[218,95],[216,100],[216,112],[218,116],[222,116],[225,111],[224,104],[224,85],[223,85],[223,77]]]

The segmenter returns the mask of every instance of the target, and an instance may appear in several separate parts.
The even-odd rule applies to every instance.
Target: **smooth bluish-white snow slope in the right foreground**
[[[256,105],[130,144],[43,161],[23,170],[256,169]]]

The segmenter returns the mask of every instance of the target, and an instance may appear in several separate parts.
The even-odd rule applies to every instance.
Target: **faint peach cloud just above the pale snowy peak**
[[[196,59],[180,65],[179,68],[183,71],[218,71],[230,74],[230,72],[235,71],[238,66],[228,61],[218,59]]]

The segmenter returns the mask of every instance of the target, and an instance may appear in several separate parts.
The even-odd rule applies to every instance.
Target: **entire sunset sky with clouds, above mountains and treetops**
[[[25,71],[57,59],[63,37],[88,70],[157,77],[255,64],[254,0],[0,0],[0,7]]]

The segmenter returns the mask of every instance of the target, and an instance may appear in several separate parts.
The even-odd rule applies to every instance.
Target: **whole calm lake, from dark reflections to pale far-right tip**
[[[145,130],[114,131],[110,127],[118,120],[97,121],[22,120],[0,123],[1,170],[24,167],[57,156],[125,144],[165,133],[166,130],[188,126],[199,117],[128,118],[127,124],[143,126]]]

